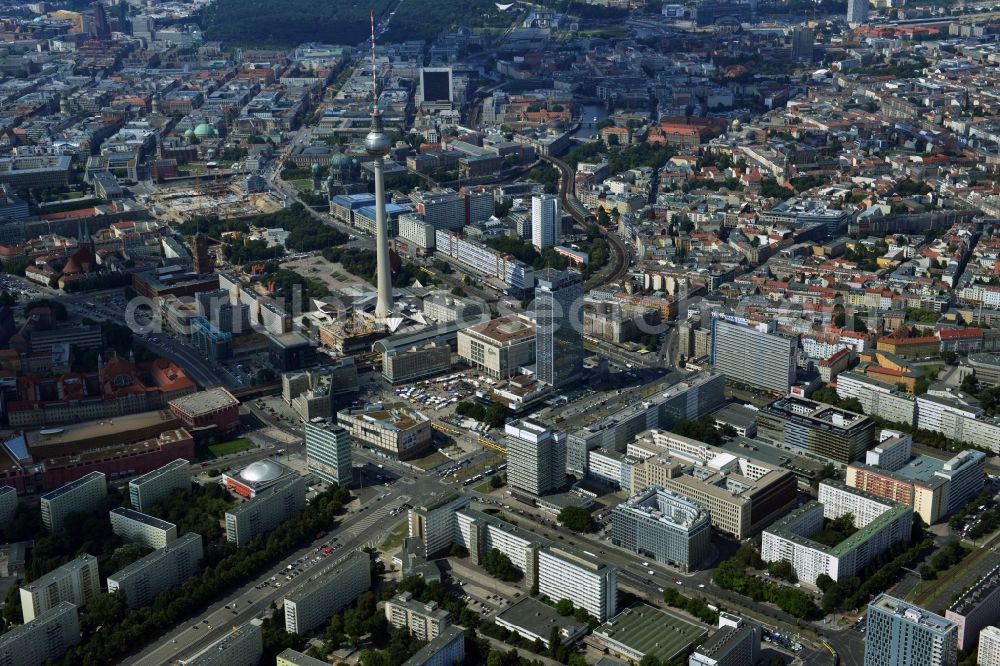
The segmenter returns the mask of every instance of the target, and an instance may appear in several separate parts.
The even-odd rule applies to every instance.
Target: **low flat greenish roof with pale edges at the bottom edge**
[[[693,622],[643,603],[626,608],[594,630],[598,639],[665,661],[684,652],[706,633]]]

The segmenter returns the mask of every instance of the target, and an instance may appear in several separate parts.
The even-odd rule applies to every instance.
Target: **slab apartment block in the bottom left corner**
[[[80,642],[76,606],[60,601],[34,620],[0,636],[0,664],[38,666],[55,663]]]

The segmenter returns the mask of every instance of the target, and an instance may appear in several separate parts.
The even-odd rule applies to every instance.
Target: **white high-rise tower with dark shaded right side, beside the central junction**
[[[504,427],[507,483],[516,492],[539,496],[566,482],[566,439],[544,426],[522,419]]]

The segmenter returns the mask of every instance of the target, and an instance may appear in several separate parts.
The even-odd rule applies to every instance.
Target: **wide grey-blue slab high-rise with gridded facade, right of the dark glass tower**
[[[795,340],[768,324],[713,318],[710,359],[727,379],[765,391],[788,393],[795,381]]]

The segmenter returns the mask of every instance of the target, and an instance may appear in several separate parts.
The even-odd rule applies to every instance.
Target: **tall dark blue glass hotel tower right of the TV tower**
[[[583,375],[583,280],[575,271],[549,268],[537,275],[535,369],[555,388]]]

